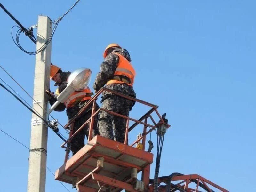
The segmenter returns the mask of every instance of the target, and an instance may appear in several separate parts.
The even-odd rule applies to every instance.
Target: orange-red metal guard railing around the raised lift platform
[[[103,91],[108,91],[108,92],[111,92],[115,95],[118,95],[120,97],[124,97],[125,99],[128,99],[128,100],[132,100],[132,101],[135,101],[135,102],[138,102],[138,103],[141,103],[143,105],[146,105],[148,107],[150,107],[151,109],[148,110],[147,113],[145,113],[143,116],[141,116],[138,120],[137,119],[134,119],[134,118],[131,118],[131,117],[127,117],[127,116],[124,116],[124,115],[121,115],[121,114],[118,114],[118,113],[115,113],[113,111],[109,111],[107,109],[104,109],[104,108],[99,108],[96,110],[96,100],[98,99],[98,97],[100,96],[100,94],[103,92]],[[92,105],[92,115],[91,117],[86,121],[84,122],[84,124],[76,131],[76,132],[73,132],[73,126],[74,126],[74,122],[76,120],[76,118],[78,118],[88,107],[90,107]],[[166,124],[162,118],[162,116],[159,114],[159,112],[157,111],[157,108],[158,106],[157,105],[154,105],[154,104],[151,104],[151,103],[148,103],[146,101],[143,101],[143,100],[140,100],[140,99],[137,99],[137,98],[134,98],[134,97],[131,97],[131,96],[128,96],[128,95],[125,95],[123,93],[120,93],[120,92],[116,92],[116,91],[113,91],[111,89],[108,89],[106,87],[102,87],[87,103],[86,105],[81,108],[81,110],[64,126],[66,129],[68,129],[68,127],[70,127],[70,132],[69,132],[69,138],[67,141],[65,141],[61,147],[62,148],[68,148],[68,144],[69,142],[71,141],[71,139],[79,132],[81,131],[84,126],[86,124],[89,124],[89,135],[88,135],[88,142],[92,139],[92,129],[93,129],[93,123],[94,123],[94,117],[102,110],[102,111],[106,111],[112,115],[115,115],[115,116],[119,116],[119,117],[122,117],[124,119],[126,119],[126,130],[125,130],[125,139],[124,139],[124,144],[127,144],[127,140],[128,140],[128,132],[132,131],[132,129],[134,129],[137,125],[139,124],[143,124],[143,133],[141,135],[141,137],[139,137],[137,140],[135,140],[130,146],[134,146],[136,143],[138,143],[140,140],[142,140],[142,144],[143,144],[143,148],[142,150],[145,150],[145,141],[146,141],[146,135],[150,132],[152,132],[153,130],[155,130],[160,124],[165,124],[168,127],[170,127],[170,125]],[[152,117],[152,113],[153,112],[156,112],[157,116],[159,117],[159,122],[156,123],[156,121],[153,119]],[[148,124],[148,118],[151,119],[151,121],[153,122],[153,125],[152,124]],[[135,122],[134,124],[132,124],[130,127],[129,127],[129,121],[133,121]],[[143,122],[144,121],[144,122]],[[147,131],[147,127],[150,127],[150,129]],[[65,146],[67,145],[67,146]],[[67,162],[68,160],[68,154],[69,154],[69,150],[67,149],[66,150],[66,156],[65,156],[65,163]]]

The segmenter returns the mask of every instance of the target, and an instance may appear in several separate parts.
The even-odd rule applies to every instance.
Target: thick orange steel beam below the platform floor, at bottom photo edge
[[[106,176],[103,176],[103,175],[99,175],[99,174],[96,174],[96,173],[92,173],[92,179],[96,180],[96,181],[99,181],[101,183],[105,183],[105,184],[110,185],[110,186],[114,186],[116,188],[125,189],[125,190],[130,191],[130,192],[138,192],[138,191],[133,189],[133,186],[131,184],[128,184],[128,183],[125,183],[125,182],[122,182],[122,181],[119,181],[119,180],[116,180],[116,179],[112,179],[112,178],[109,178],[109,177],[106,177]]]

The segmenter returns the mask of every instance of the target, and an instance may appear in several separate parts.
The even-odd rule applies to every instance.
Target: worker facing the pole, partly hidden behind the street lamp
[[[58,96],[67,87],[67,79],[70,74],[71,72],[69,71],[63,72],[61,68],[55,65],[51,65],[50,77],[55,82],[54,86],[58,86],[55,93],[56,96]],[[81,92],[83,92],[84,94],[81,95]],[[49,96],[50,104],[53,105],[57,101],[57,98],[53,93],[51,93],[51,91],[46,91],[46,93]],[[67,108],[66,112],[68,120],[70,120],[77,114],[77,112],[80,111],[81,108],[83,108],[86,105],[86,103],[91,99],[92,95],[93,93],[91,92],[89,87],[85,88],[83,91],[75,91],[69,96],[68,100],[66,100],[64,103],[60,103],[54,110],[64,111],[65,108]],[[97,103],[96,108],[99,108]],[[76,132],[91,117],[91,115],[92,105],[88,107],[78,118],[76,118],[73,131]],[[96,115],[93,123],[92,137],[99,135],[97,119],[98,116]],[[75,155],[77,151],[84,147],[85,135],[88,139],[88,134],[89,124],[86,124],[86,126],[72,138],[70,143],[73,155]]]

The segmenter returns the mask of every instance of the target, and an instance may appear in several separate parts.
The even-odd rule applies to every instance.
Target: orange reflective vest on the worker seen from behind
[[[119,56],[119,62],[117,64],[117,68],[116,68],[116,71],[114,73],[114,77],[115,76],[125,76],[127,77],[127,79],[130,80],[130,82],[125,82],[125,81],[119,81],[119,80],[116,80],[116,79],[111,79],[107,82],[106,85],[109,85],[109,84],[115,84],[115,83],[126,83],[130,86],[133,85],[134,83],[134,77],[136,75],[135,73],[135,70],[134,68],[132,67],[132,64],[121,54],[119,53],[114,53],[116,55]],[[121,79],[121,78],[120,78]]]

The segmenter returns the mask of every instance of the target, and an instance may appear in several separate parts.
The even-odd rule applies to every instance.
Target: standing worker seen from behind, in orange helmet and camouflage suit
[[[122,49],[118,44],[109,44],[103,53],[103,58],[105,60],[102,62],[100,72],[93,84],[95,92],[106,84],[108,89],[136,98],[132,88],[135,70],[132,67],[128,51]],[[135,102],[108,91],[102,92],[102,95],[102,108],[129,116],[129,111],[132,110]],[[101,136],[124,143],[126,119],[101,110],[98,126]]]

